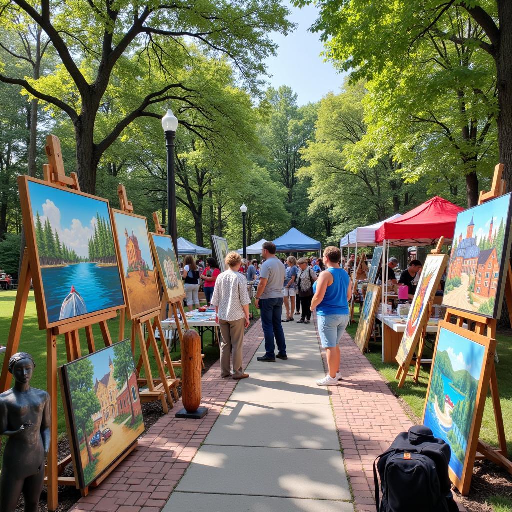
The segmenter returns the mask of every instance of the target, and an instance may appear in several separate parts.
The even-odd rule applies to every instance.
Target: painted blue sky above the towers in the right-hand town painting
[[[510,195],[502,196],[493,201],[488,201],[480,206],[471,208],[461,212],[457,217],[457,225],[455,226],[455,239],[459,239],[462,234],[462,239],[466,238],[467,226],[471,222],[474,215],[475,229],[473,230],[473,236],[480,240],[483,236],[489,236],[490,221],[493,219],[493,233],[496,235],[497,230],[500,227],[502,219],[506,219],[508,214],[510,202]]]

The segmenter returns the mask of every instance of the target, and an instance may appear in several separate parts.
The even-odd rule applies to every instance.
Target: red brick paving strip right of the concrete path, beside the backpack
[[[343,335],[341,350],[343,385],[329,388],[338,436],[356,511],[375,512],[373,461],[413,423],[347,333]],[[325,350],[322,358],[327,368]],[[459,509],[465,511],[460,504]]]

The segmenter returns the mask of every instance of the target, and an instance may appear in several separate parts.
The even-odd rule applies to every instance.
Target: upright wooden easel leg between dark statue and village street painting
[[[57,416],[57,336],[51,329],[46,334],[47,345],[47,391],[53,399],[50,402],[50,451],[47,463],[48,510],[54,511],[58,505],[58,416]]]

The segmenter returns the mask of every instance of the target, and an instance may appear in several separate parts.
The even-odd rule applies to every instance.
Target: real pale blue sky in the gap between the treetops
[[[298,95],[298,104],[321,100],[328,92],[339,93],[344,75],[337,74],[330,62],[320,56],[324,46],[319,41],[320,34],[308,32],[318,17],[314,6],[298,9],[288,4],[292,11],[289,19],[298,25],[297,29],[285,37],[272,34],[278,43],[278,56],[267,60],[270,85],[274,88],[290,86]]]

